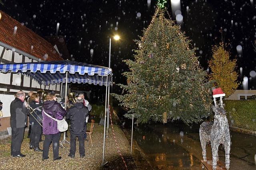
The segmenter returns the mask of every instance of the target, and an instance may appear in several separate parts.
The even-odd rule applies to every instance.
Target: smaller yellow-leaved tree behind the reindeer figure
[[[212,47],[212,59],[209,61],[211,74],[209,80],[215,80],[215,86],[221,87],[226,97],[234,93],[239,83],[236,69],[236,59],[230,60],[230,53],[225,50],[226,45],[220,43]]]

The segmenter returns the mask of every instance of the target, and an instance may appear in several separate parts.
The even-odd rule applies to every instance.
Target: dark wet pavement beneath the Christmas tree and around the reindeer
[[[145,153],[153,169],[205,169],[201,164],[202,149],[199,125],[144,125],[134,127],[134,143]],[[230,170],[255,170],[256,137],[231,132]],[[219,147],[224,164],[224,149]],[[210,145],[207,160],[212,159]]]

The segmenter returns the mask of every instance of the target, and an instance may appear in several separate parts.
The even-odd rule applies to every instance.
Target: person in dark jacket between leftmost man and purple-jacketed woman
[[[39,101],[37,93],[31,94],[30,97],[30,107],[34,111],[30,112],[29,123],[31,124],[31,135],[30,135],[30,149],[34,151],[42,152],[43,150],[39,148],[40,135],[42,133],[42,106],[43,104]]]

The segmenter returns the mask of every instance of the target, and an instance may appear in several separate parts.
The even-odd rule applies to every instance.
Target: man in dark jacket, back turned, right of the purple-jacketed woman
[[[68,156],[71,158],[74,158],[76,153],[76,137],[79,140],[80,157],[85,156],[84,134],[86,133],[86,117],[88,114],[88,108],[84,106],[82,97],[76,98],[74,106],[68,109],[66,115],[66,118],[70,119],[70,152]]]

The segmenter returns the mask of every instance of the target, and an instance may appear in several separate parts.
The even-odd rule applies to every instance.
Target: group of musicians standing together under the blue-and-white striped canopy
[[[49,148],[52,143],[53,160],[61,159],[59,156],[60,131],[57,121],[54,119],[66,119],[70,122],[70,153],[68,156],[75,157],[76,138],[79,140],[80,157],[85,156],[84,140],[86,139],[86,122],[92,106],[84,99],[84,94],[76,96],[75,103],[65,110],[58,102],[54,93],[47,93],[42,98],[42,92],[30,92],[26,98],[23,91],[17,92],[15,99],[10,104],[10,125],[12,128],[11,155],[24,157],[21,153],[21,144],[24,138],[27,116],[31,125],[30,149],[42,152],[42,160],[49,158]],[[52,119],[54,118],[54,119]],[[41,135],[44,134],[43,149],[39,147]]]

